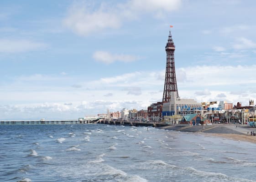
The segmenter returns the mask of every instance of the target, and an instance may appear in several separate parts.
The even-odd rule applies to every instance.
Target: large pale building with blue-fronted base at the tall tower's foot
[[[172,91],[171,101],[163,103],[162,116],[201,114],[202,111],[202,103],[193,99],[181,99],[176,96],[175,91]]]

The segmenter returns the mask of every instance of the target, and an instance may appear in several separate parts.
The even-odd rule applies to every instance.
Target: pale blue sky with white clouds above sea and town
[[[181,98],[256,102],[254,0],[1,0],[0,120],[162,101],[170,25]]]

